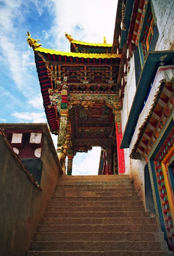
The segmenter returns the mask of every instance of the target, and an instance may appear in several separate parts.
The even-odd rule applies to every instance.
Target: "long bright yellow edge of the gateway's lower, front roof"
[[[59,52],[51,49],[45,49],[42,47],[38,47],[34,49],[36,52],[45,52],[50,54],[62,55],[67,57],[78,57],[78,58],[121,58],[121,54],[111,54],[111,53],[75,53],[75,52]]]

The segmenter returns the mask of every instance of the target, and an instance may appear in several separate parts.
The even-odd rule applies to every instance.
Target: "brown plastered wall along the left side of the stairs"
[[[40,184],[43,191],[25,174],[2,135],[0,152],[0,255],[24,256],[60,175],[56,150],[51,135],[49,140],[44,136]]]

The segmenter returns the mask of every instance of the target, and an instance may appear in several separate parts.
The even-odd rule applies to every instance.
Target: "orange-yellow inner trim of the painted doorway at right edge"
[[[168,161],[173,156],[173,154],[174,154],[174,145],[172,146],[171,150],[168,152],[166,157],[161,162],[161,166],[163,169],[164,181],[165,181],[167,195],[168,195],[168,202],[171,210],[171,217],[172,217],[172,220],[174,221],[174,200],[173,200],[170,182],[168,179]]]

